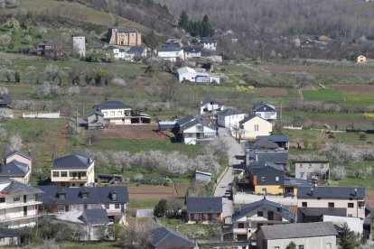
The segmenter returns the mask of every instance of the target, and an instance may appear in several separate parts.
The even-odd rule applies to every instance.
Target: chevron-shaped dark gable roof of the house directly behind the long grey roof
[[[269,208],[277,213],[280,213],[282,217],[290,222],[295,221],[295,214],[290,212],[287,206],[282,206],[276,202],[267,200],[265,197],[261,200],[240,207],[240,210],[232,215],[232,221],[237,221],[239,218],[246,216],[248,213],[262,208]]]

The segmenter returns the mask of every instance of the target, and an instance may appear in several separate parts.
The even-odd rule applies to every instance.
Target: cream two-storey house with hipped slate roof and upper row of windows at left
[[[51,182],[61,187],[88,186],[95,183],[95,161],[83,152],[73,152],[53,160]]]

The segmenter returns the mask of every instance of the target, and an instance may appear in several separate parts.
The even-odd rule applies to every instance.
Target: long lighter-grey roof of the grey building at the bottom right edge
[[[332,222],[261,226],[266,240],[338,235]]]

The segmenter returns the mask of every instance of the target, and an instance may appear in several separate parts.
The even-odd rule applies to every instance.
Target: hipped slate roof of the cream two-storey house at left
[[[51,169],[88,169],[92,159],[83,152],[73,152],[53,160]]]

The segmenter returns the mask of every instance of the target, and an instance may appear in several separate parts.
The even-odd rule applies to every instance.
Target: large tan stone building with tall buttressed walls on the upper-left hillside
[[[109,28],[108,43],[121,46],[140,46],[142,45],[142,35],[134,28]]]

